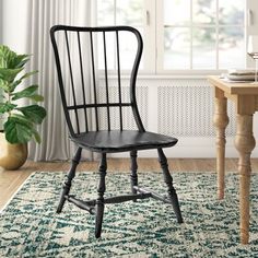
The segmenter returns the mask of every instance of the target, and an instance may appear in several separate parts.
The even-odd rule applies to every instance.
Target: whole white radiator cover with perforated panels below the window
[[[104,80],[99,81],[101,95],[106,97]],[[109,101],[117,102],[118,90],[116,79],[109,82]],[[122,99],[129,102],[129,81],[122,80]],[[138,79],[137,99],[140,115],[146,130],[178,138],[174,148],[165,149],[171,157],[214,157],[215,129],[213,117],[213,87],[204,79]],[[119,128],[118,109],[112,128]],[[130,108],[126,115],[126,129],[134,129],[136,125]],[[235,109],[231,101],[227,103],[230,124],[226,128],[226,156],[237,156],[234,148]],[[101,113],[101,125],[106,126],[106,110]],[[101,127],[102,128],[102,127]],[[255,152],[254,152],[255,153]],[[128,156],[127,153],[113,156]],[[139,156],[156,156],[153,151],[139,152]]]

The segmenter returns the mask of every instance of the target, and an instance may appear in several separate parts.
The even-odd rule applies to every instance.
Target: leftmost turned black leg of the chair
[[[70,168],[69,173],[67,174],[66,180],[63,183],[60,201],[59,201],[59,204],[58,204],[58,208],[57,208],[57,213],[60,213],[62,211],[63,204],[66,202],[64,196],[69,195],[71,184],[72,184],[72,179],[75,176],[77,166],[78,166],[78,164],[80,163],[80,160],[81,160],[81,153],[82,153],[82,148],[78,148],[78,150],[75,152],[75,155],[72,159],[71,168]]]

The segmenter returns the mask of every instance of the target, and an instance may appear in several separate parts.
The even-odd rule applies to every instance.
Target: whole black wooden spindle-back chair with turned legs
[[[130,74],[129,86],[122,85],[121,82],[121,66],[124,66],[121,64],[121,56],[125,52],[125,48],[120,48],[121,45],[129,42],[129,37],[127,37],[126,34],[130,34],[129,37],[133,38],[130,40],[134,40],[133,44],[130,43],[130,45],[134,46],[134,56],[131,68],[128,70]],[[136,201],[137,199],[152,197],[165,203],[171,203],[178,223],[183,223],[177,195],[173,187],[173,178],[168,171],[166,156],[162,150],[163,148],[175,145],[177,139],[145,131],[138,110],[136,81],[143,49],[140,33],[129,26],[75,27],[56,25],[50,30],[50,38],[56,58],[60,95],[70,139],[78,146],[71,162],[71,168],[63,184],[57,212],[61,212],[66,200],[68,200],[77,207],[89,211],[91,214],[95,214],[95,236],[99,237],[104,207],[106,203],[118,203],[129,200]],[[112,47],[107,46],[108,43],[112,44]],[[112,55],[110,51],[113,51]],[[114,56],[116,57],[115,60]],[[96,70],[99,68],[97,63],[101,66],[101,58],[104,60],[102,62],[104,68],[104,85],[102,86],[98,85],[98,80],[96,79]],[[131,58],[132,56],[129,57],[129,59]],[[91,80],[89,80],[89,74],[86,74],[89,73],[89,69],[84,66],[85,61],[89,62],[87,68],[89,66],[91,67]],[[118,96],[115,101],[112,99],[114,97],[109,89],[109,63],[113,64],[113,70],[115,69],[116,71],[115,84],[117,86]],[[127,69],[128,66],[129,64],[126,63]],[[124,101],[125,94],[122,91],[125,90],[129,91],[129,101]],[[103,97],[99,99],[98,94],[103,91],[105,92],[104,99]],[[124,110],[126,108],[132,112],[136,121],[136,130],[125,128],[127,121],[125,121],[124,118]],[[106,115],[103,116],[103,113]],[[114,114],[118,116],[118,119],[115,119],[118,124],[118,128],[115,130],[112,125]],[[91,124],[89,124],[90,119]],[[94,124],[95,127],[93,127],[92,124]],[[106,128],[104,128],[105,126]],[[82,149],[101,153],[101,164],[98,168],[99,185],[96,200],[79,200],[74,196],[69,195],[71,183],[75,176],[75,169],[81,159]],[[167,185],[167,197],[163,197],[138,186],[137,152],[149,149],[157,150],[164,180]],[[118,152],[130,152],[132,194],[104,198],[106,190],[105,175],[107,169],[106,154]]]

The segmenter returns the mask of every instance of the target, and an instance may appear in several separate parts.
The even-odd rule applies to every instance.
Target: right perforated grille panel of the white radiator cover
[[[214,137],[213,91],[203,80],[175,80],[159,86],[159,132],[179,137]],[[228,102],[226,136],[235,134],[234,107]]]

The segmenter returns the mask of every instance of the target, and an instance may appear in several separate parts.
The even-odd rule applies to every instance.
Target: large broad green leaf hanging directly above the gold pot
[[[10,143],[26,143],[34,134],[33,124],[21,116],[9,117],[3,129]]]

